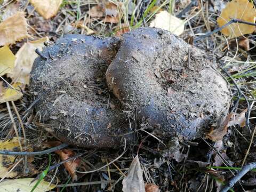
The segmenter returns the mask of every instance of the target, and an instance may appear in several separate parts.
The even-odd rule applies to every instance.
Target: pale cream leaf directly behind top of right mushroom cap
[[[167,11],[161,11],[156,14],[156,18],[150,22],[149,27],[161,28],[169,30],[175,35],[181,35],[185,28],[185,22]]]

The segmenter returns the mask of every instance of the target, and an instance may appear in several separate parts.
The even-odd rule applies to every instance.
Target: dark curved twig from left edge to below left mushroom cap
[[[67,143],[62,143],[61,145],[57,147],[53,147],[50,149],[42,150],[42,151],[36,151],[36,152],[16,152],[16,151],[8,151],[8,150],[0,150],[0,155],[11,155],[11,156],[35,156],[35,155],[44,155],[48,153],[52,153],[54,151],[63,149],[67,147]]]

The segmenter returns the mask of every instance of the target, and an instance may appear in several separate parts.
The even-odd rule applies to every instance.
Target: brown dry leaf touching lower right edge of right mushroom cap
[[[206,135],[206,138],[212,141],[222,140],[228,131],[228,122],[232,116],[232,113],[228,114],[225,121],[223,121],[218,129],[211,130],[210,133]]]

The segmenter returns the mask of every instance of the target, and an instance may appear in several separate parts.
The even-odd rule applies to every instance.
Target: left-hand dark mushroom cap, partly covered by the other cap
[[[39,98],[35,109],[47,131],[81,147],[122,145],[129,122],[105,81],[118,44],[118,38],[67,35],[44,49],[49,59],[35,60],[30,90]]]

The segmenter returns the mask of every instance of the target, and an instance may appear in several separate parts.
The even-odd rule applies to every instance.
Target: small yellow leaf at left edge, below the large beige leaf
[[[2,85],[3,86],[3,85]],[[0,103],[7,102],[7,101],[16,101],[22,97],[21,89],[24,89],[24,85],[21,83],[14,83],[12,87],[7,87],[1,89],[3,90],[2,94],[0,95]]]

